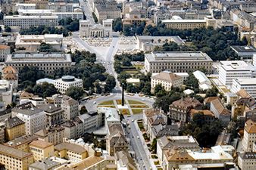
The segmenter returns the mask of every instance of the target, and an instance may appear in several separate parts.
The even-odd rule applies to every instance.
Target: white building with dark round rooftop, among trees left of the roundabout
[[[58,91],[64,94],[70,87],[83,88],[83,80],[77,79],[74,76],[62,76],[61,79],[55,79],[54,85]]]

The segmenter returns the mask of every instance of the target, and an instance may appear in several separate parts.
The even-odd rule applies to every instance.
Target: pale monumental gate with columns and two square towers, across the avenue
[[[103,20],[101,24],[91,24],[89,20],[80,20],[80,37],[111,37],[112,20]]]

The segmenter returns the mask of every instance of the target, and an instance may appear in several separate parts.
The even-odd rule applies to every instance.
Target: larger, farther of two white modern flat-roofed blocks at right
[[[219,80],[223,85],[231,87],[233,79],[251,78],[253,66],[242,60],[220,61]]]

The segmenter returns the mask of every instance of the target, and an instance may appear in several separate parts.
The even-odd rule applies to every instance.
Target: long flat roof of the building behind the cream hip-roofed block
[[[164,62],[164,61],[212,61],[208,54],[201,51],[153,51],[150,54],[145,54],[149,62]]]

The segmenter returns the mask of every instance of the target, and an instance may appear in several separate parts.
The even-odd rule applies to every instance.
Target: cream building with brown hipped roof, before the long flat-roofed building
[[[151,92],[154,92],[156,85],[162,85],[166,91],[172,88],[180,88],[183,85],[183,78],[175,73],[164,71],[151,76]]]

